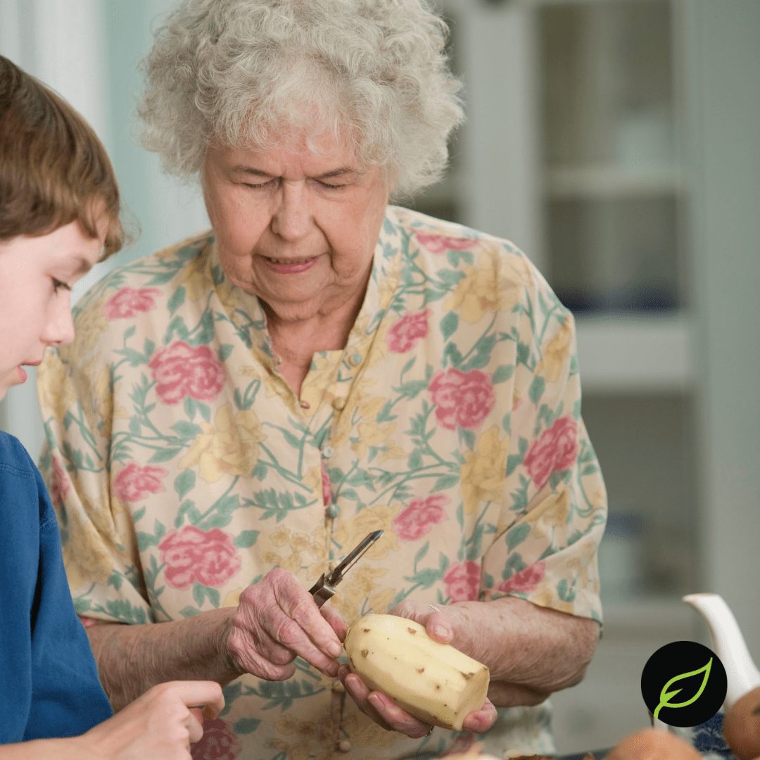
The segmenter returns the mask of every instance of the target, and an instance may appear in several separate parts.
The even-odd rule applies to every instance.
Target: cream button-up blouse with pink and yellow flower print
[[[573,319],[511,243],[388,207],[347,346],[314,355],[300,397],[213,233],[113,271],[77,312],[39,391],[81,616],[188,618],[274,567],[310,587],[382,528],[329,602],[349,623],[407,597],[505,594],[600,621],[606,496]],[[226,686],[194,758],[407,758],[471,739],[389,733],[296,664]],[[482,740],[550,752],[546,705],[501,710]]]

